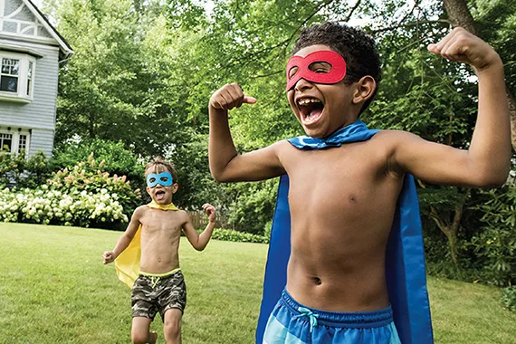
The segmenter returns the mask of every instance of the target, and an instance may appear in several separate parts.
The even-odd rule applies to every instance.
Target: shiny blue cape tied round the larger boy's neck
[[[299,137],[289,139],[300,149],[339,147],[343,143],[365,141],[378,130],[368,129],[357,120],[327,139]],[[263,342],[267,320],[287,283],[287,263],[291,253],[291,214],[288,202],[289,177],[280,178],[271,242],[265,266],[263,299],[256,328],[256,343]],[[414,177],[406,175],[397,202],[387,243],[387,290],[399,338],[403,344],[434,343],[428,291],[426,291],[425,253]]]

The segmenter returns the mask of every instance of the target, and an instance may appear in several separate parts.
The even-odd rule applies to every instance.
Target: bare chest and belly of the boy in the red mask
[[[382,135],[340,148],[283,146],[290,177],[287,291],[325,311],[387,307],[385,253],[403,176],[387,169]]]

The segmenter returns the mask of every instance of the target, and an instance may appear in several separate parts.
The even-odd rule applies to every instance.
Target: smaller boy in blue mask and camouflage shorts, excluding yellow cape
[[[181,318],[186,307],[186,285],[178,256],[181,230],[197,251],[204,250],[215,227],[215,207],[203,205],[209,224],[202,234],[197,234],[186,211],[172,204],[172,196],[178,188],[172,164],[155,158],[145,168],[145,177],[152,203],[134,211],[126,232],[113,251],[104,253],[103,262],[112,263],[141,227],[139,277],[131,291],[131,339],[133,343],[155,343],[158,334],[149,332],[149,327],[159,311],[167,344],[180,343]]]

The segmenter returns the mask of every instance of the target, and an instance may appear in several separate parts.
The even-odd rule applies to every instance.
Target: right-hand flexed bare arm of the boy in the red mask
[[[471,64],[478,76],[478,117],[470,147],[452,148],[397,132],[389,163],[435,184],[503,185],[511,167],[511,128],[500,56],[463,28],[455,28],[428,50],[450,61]]]

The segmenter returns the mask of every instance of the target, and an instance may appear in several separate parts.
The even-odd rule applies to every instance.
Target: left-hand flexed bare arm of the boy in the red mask
[[[210,137],[208,156],[210,171],[221,182],[253,181],[278,177],[285,173],[278,158],[278,149],[284,142],[267,148],[238,155],[227,119],[228,110],[256,100],[247,97],[236,83],[226,84],[216,91],[209,103]]]

